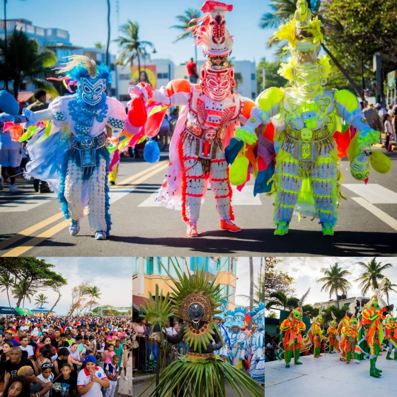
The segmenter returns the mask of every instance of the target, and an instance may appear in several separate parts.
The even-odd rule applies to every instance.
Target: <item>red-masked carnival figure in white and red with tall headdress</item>
[[[196,44],[203,44],[207,62],[200,70],[200,84],[173,80],[159,91],[140,87],[144,95],[167,106],[184,106],[170,144],[170,165],[156,201],[182,211],[188,235],[197,235],[196,222],[208,182],[214,192],[221,228],[241,229],[232,224],[232,190],[224,148],[233,137],[236,124],[245,123],[254,102],[233,92],[234,70],[227,61],[233,40],[225,28],[224,15],[233,6],[206,1],[206,15],[194,29]],[[136,92],[137,87],[130,87]],[[192,231],[193,228],[193,231]],[[189,232],[190,230],[190,232]]]

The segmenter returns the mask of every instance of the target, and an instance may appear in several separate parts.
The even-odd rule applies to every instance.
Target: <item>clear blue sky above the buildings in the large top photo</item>
[[[119,0],[116,13],[116,0],[111,3],[111,39],[118,36],[118,26],[128,19],[140,25],[141,40],[155,44],[155,58],[170,58],[176,64],[186,62],[194,56],[193,40],[184,39],[174,44],[177,29],[169,29],[177,24],[176,15],[187,8],[200,9],[202,0]],[[235,0],[234,8],[227,13],[227,27],[234,36],[233,54],[236,60],[256,60],[266,56],[272,59],[272,50],[266,48],[266,41],[274,29],[262,30],[258,27],[260,16],[269,11],[269,0]],[[1,7],[1,17],[4,11]],[[79,46],[93,46],[95,42],[106,43],[107,6],[106,0],[8,0],[7,18],[23,18],[44,28],[58,27],[70,33],[70,40]],[[112,53],[118,48],[111,44]],[[198,59],[202,59],[198,50]]]

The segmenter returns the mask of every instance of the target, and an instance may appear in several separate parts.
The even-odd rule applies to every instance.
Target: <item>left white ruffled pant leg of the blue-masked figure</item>
[[[74,220],[83,218],[83,173],[73,160],[69,160],[67,163],[64,196],[67,201],[70,218]]]

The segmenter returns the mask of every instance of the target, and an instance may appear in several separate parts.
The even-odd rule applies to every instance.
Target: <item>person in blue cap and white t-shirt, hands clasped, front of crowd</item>
[[[86,356],[85,367],[77,376],[77,391],[81,396],[102,397],[101,387],[110,387],[108,377],[102,368],[96,366],[94,356]]]

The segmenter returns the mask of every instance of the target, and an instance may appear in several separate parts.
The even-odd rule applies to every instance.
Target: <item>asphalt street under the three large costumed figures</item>
[[[397,152],[389,153],[392,169],[372,171],[368,185],[351,177],[348,161],[341,162],[347,200],[339,206],[333,237],[322,236],[310,219],[293,218],[289,234],[273,235],[274,197],[252,195],[252,184],[233,194],[235,223],[241,233],[219,229],[214,198],[208,192],[198,222],[200,237],[185,236],[181,214],[156,205],[168,159],[158,164],[128,159],[111,188],[112,236],[96,241],[87,217],[79,235],[69,235],[54,194],[38,194],[33,183],[18,179],[21,194],[8,185],[0,192],[0,255],[5,256],[382,256],[397,252]]]

